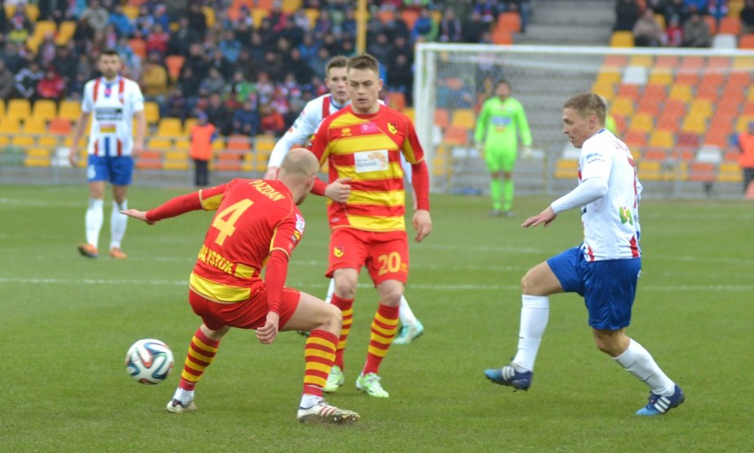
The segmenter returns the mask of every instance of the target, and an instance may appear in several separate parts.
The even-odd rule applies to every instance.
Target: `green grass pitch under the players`
[[[129,205],[154,207],[180,189],[140,188]],[[354,426],[303,426],[296,408],[304,340],[269,346],[233,331],[196,389],[199,411],[165,412],[199,325],[188,273],[211,213],[156,226],[129,221],[126,261],[107,257],[109,216],[89,260],[86,188],[0,187],[0,451],[704,451],[754,450],[754,203],[642,203],[642,279],[628,333],[687,393],[660,418],[637,418],[647,388],[594,346],[581,298],[551,298],[550,325],[528,392],[489,383],[519,327],[519,280],[581,241],[578,213],[524,230],[549,198],[519,197],[517,216],[490,219],[483,197],[434,196],[434,232],[412,242],[406,296],[426,326],[383,362],[389,400],[354,388],[376,292],[360,280],[346,351],[346,385],[329,401],[361,414]],[[302,206],[304,242],[289,286],[324,296],[324,201]],[[411,231],[411,230],[410,230]],[[158,386],[131,380],[128,346],[154,337],[173,349]]]

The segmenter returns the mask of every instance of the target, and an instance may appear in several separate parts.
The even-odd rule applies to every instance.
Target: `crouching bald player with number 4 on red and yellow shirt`
[[[335,361],[341,313],[317,297],[284,287],[290,253],[304,234],[304,217],[296,205],[312,190],[318,171],[311,152],[291,150],[281,164],[279,180],[236,179],[177,196],[151,211],[123,211],[149,224],[188,211],[217,211],[189,279],[188,301],[203,324],[191,339],[181,382],[167,411],[196,409],[194,387],[230,327],[256,329],[263,344],[273,342],[278,330],[311,330],[304,346],[298,419],[358,420],[356,412],[331,406],[322,397]]]

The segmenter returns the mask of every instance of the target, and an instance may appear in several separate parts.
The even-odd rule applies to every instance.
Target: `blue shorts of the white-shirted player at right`
[[[574,247],[547,260],[566,293],[584,297],[589,326],[618,330],[631,324],[631,307],[642,258],[588,262],[581,247]]]

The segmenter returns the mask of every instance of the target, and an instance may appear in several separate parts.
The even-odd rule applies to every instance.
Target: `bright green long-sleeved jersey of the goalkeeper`
[[[516,131],[518,129],[518,135]],[[481,112],[474,131],[474,142],[484,142],[492,150],[517,150],[518,136],[524,146],[531,146],[532,134],[524,106],[508,97],[501,101],[491,97],[481,105]]]

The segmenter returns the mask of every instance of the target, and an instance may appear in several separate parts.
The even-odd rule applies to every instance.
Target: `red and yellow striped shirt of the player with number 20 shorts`
[[[355,113],[348,106],[322,120],[310,150],[320,165],[327,162],[330,182],[350,178],[346,203],[327,200],[331,228],[405,231],[400,155],[403,153],[409,164],[424,161],[411,119],[385,105],[370,115]],[[416,189],[419,199],[428,200],[427,187]],[[425,193],[419,194],[419,190]],[[428,210],[428,202],[419,209]]]

